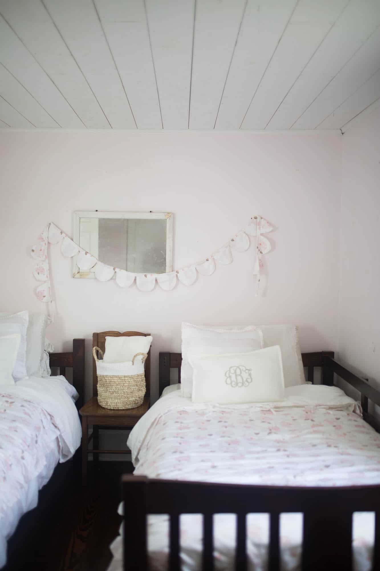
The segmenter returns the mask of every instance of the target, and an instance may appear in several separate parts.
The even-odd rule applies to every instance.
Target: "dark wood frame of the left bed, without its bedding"
[[[84,397],[84,339],[72,340],[72,351],[66,353],[50,353],[51,374],[66,376],[66,368],[72,369],[72,385],[78,391],[79,399],[75,405],[83,406]],[[57,464],[50,480],[38,493],[38,505],[25,513],[7,543],[7,564],[2,571],[20,571],[21,569],[34,569],[33,546],[41,542],[41,533],[49,525],[57,525],[56,514],[62,508],[62,493],[73,479],[80,477],[80,449],[74,457],[63,464]]]

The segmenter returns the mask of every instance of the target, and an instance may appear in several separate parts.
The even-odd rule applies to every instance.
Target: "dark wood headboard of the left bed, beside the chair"
[[[50,368],[58,367],[59,375],[66,376],[66,367],[72,368],[72,385],[78,391],[79,399],[75,405],[78,410],[83,407],[84,397],[84,339],[72,340],[72,351],[67,353],[50,353]]]

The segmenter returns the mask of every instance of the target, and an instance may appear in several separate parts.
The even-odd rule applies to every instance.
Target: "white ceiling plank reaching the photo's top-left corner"
[[[90,86],[40,0],[0,0],[0,12],[70,102],[86,127],[109,124]]]

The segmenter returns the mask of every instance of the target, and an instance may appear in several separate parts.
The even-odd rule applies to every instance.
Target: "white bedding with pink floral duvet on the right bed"
[[[360,407],[337,387],[299,385],[282,403],[195,404],[173,389],[142,417],[128,439],[135,474],[239,484],[338,486],[380,484],[380,435]],[[231,514],[215,516],[216,569],[233,569]],[[182,516],[183,569],[200,568],[200,516]],[[282,569],[300,562],[301,514],[281,522]],[[248,517],[249,569],[266,568],[268,521]],[[355,569],[370,569],[374,517],[354,516]],[[151,569],[167,568],[168,518],[149,516]],[[121,537],[111,545],[109,571],[122,569]]]

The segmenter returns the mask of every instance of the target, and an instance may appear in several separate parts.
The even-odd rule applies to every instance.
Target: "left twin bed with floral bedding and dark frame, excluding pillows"
[[[39,525],[39,490],[52,489],[80,445],[84,339],[73,340],[72,352],[51,353],[50,367],[59,375],[0,388],[0,568],[21,568],[19,557]],[[72,384],[64,379],[66,368]],[[54,495],[48,501],[54,504]]]

